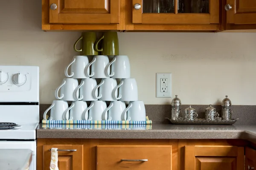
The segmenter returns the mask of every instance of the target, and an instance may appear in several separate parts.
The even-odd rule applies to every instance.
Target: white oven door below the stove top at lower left
[[[32,160],[29,170],[36,170],[36,142],[35,141],[0,141],[1,149],[29,149],[32,150]]]

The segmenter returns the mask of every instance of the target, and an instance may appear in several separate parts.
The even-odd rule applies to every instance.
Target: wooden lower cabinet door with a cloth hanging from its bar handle
[[[51,151],[49,149],[51,148],[58,148],[58,150],[64,150],[58,151],[59,170],[83,170],[83,145],[44,145],[43,148],[43,170],[49,170],[51,162]]]

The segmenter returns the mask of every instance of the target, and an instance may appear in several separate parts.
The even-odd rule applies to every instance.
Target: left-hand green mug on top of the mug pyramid
[[[76,49],[76,44],[82,40],[81,48],[79,50]],[[83,32],[81,37],[76,40],[74,44],[74,50],[77,52],[81,52],[83,56],[93,56],[98,55],[98,51],[95,51],[93,46],[97,40],[96,32]]]

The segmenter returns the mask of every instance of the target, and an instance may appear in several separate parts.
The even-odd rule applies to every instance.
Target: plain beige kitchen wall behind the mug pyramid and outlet
[[[51,103],[71,61],[78,32],[41,31],[41,1],[0,1],[0,65],[38,65],[40,102]],[[119,33],[139,99],[155,97],[155,74],[171,72],[173,95],[183,104],[256,105],[256,33]]]

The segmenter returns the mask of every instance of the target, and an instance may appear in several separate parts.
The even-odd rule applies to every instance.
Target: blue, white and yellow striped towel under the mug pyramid
[[[148,119],[146,116],[145,121],[114,121],[114,120],[42,120],[42,124],[94,124],[94,125],[111,125],[111,124],[119,124],[119,125],[149,125],[152,124],[152,121]]]

